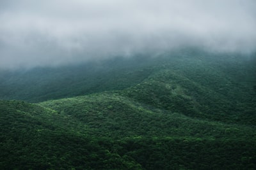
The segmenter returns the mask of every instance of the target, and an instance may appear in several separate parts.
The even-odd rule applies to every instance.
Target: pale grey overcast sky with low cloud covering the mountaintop
[[[200,46],[256,49],[255,0],[1,0],[0,68]]]

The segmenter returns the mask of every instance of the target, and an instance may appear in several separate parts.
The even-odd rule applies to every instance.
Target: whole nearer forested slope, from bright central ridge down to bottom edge
[[[116,92],[39,105],[1,101],[0,113],[3,169],[255,167],[255,128],[186,117]]]

